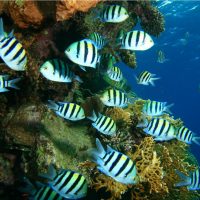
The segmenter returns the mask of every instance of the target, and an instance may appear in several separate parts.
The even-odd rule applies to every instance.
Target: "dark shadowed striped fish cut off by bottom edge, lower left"
[[[22,192],[28,193],[29,199],[32,200],[64,200],[60,194],[55,192],[50,186],[43,185],[40,182],[36,182],[36,186],[34,186],[27,178],[24,178],[24,182],[26,186],[20,189]]]

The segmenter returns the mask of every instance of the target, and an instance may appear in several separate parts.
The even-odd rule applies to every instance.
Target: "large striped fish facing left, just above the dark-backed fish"
[[[97,46],[89,39],[72,43],[65,50],[65,54],[72,62],[80,65],[83,70],[85,67],[96,68],[100,59]]]

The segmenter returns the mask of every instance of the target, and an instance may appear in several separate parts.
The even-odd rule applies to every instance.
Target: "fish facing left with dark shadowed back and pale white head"
[[[67,63],[60,59],[52,59],[46,61],[40,67],[41,74],[51,80],[57,82],[70,83],[72,80],[83,82],[79,76],[76,76],[68,67]]]

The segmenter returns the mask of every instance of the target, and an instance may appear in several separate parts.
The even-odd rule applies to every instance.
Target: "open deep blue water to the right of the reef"
[[[157,7],[166,21],[165,32],[154,38],[153,48],[136,52],[136,69],[122,66],[122,71],[141,98],[174,103],[174,117],[200,136],[200,2],[167,0]],[[159,50],[168,61],[157,62]],[[137,85],[135,76],[143,70],[161,77],[155,87]],[[200,163],[200,147],[193,144],[191,149]]]

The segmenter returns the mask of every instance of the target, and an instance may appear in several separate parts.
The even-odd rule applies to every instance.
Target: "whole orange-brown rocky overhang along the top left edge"
[[[59,1],[2,1],[0,14],[6,13],[20,28],[39,28],[46,19],[63,21],[76,12],[87,12],[100,0],[59,0]]]

